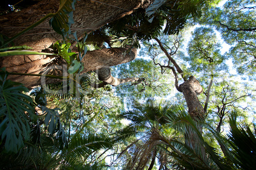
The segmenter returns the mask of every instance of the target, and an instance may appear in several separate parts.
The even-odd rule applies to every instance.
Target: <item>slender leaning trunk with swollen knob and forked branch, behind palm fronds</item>
[[[183,70],[181,70],[178,63],[176,63],[174,58],[172,58],[171,54],[167,52],[166,48],[164,48],[164,46],[162,45],[162,42],[160,42],[160,40],[157,38],[155,38],[155,41],[158,42],[160,49],[162,49],[162,51],[164,51],[164,53],[166,54],[166,56],[169,60],[168,65],[160,65],[160,64],[158,64],[158,65],[160,65],[161,69],[167,68],[167,69],[171,69],[173,71],[173,74],[175,77],[174,85],[178,91],[183,93],[183,96],[186,100],[187,107],[188,107],[188,114],[190,115],[190,117],[192,117],[192,119],[194,119],[195,122],[204,121],[204,119],[205,119],[204,108],[197,98],[197,95],[200,95],[203,92],[203,88],[202,88],[200,82],[197,81],[196,77],[194,77],[194,76],[190,76],[189,79],[187,80],[187,78],[183,75]],[[169,63],[173,63],[173,67],[170,66]],[[157,63],[155,63],[155,64],[157,64]],[[178,82],[177,72],[178,72],[178,74],[181,75],[181,77],[183,78],[183,81],[184,81],[180,85]],[[197,128],[199,129],[199,131],[201,133],[203,132],[203,129],[201,126],[198,126]],[[197,134],[192,133],[190,131],[185,133],[185,143],[187,143],[187,145],[189,145],[191,148],[195,148],[195,149],[197,148],[197,149],[201,150],[202,157],[204,159],[206,158],[204,147],[201,145]]]

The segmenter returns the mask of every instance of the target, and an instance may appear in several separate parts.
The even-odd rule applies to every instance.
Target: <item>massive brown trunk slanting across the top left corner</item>
[[[75,23],[71,25],[71,30],[76,30],[78,37],[81,37],[84,32],[90,33],[97,30],[113,20],[131,14],[133,10],[147,8],[152,1],[77,1],[73,14]],[[0,16],[0,33],[12,37],[48,13],[55,13],[58,9],[59,0],[45,0],[17,13]],[[15,44],[25,44],[34,48],[35,51],[41,51],[41,49],[48,48],[52,42],[61,39],[61,36],[49,26],[49,20],[50,18],[38,27],[26,32],[15,41]]]

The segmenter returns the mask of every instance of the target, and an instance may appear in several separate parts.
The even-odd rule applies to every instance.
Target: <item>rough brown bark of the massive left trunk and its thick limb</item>
[[[87,1],[81,0],[76,3],[74,11],[75,23],[71,30],[76,30],[78,37],[83,37],[84,32],[90,33],[97,30],[106,23],[109,23],[125,15],[129,15],[138,8],[147,8],[153,0],[99,0]],[[20,30],[37,22],[48,13],[55,13],[59,8],[59,0],[40,1],[38,4],[26,8],[17,13],[0,16],[0,33],[7,37],[12,37]],[[50,47],[53,42],[62,39],[60,35],[50,28],[48,20],[41,23],[38,27],[26,32],[14,41],[15,45],[27,45],[34,51]],[[125,49],[117,49],[124,51]],[[97,51],[88,51],[83,63],[85,71],[97,70],[101,67],[118,65],[120,63],[130,62],[136,57],[136,51],[131,55],[118,57],[120,54],[101,49]],[[50,65],[56,64],[56,58],[49,56],[7,56],[0,58],[0,67],[6,67],[9,72],[22,72],[26,74],[39,74]],[[59,64],[59,63],[58,63]],[[38,85],[38,77],[32,76],[12,76],[17,82],[22,82],[27,87]]]

